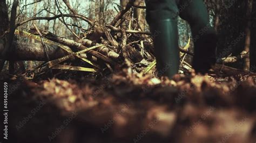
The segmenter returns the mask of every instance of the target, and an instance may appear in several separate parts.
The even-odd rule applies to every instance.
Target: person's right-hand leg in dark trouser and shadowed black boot
[[[193,68],[206,73],[216,58],[217,36],[209,24],[208,12],[203,0],[180,0],[180,17],[190,24],[194,40]]]

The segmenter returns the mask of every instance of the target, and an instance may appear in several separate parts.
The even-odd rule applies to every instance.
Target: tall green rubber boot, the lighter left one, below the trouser
[[[179,70],[177,20],[158,20],[150,25],[150,29],[156,32],[153,42],[158,76],[171,78]]]

